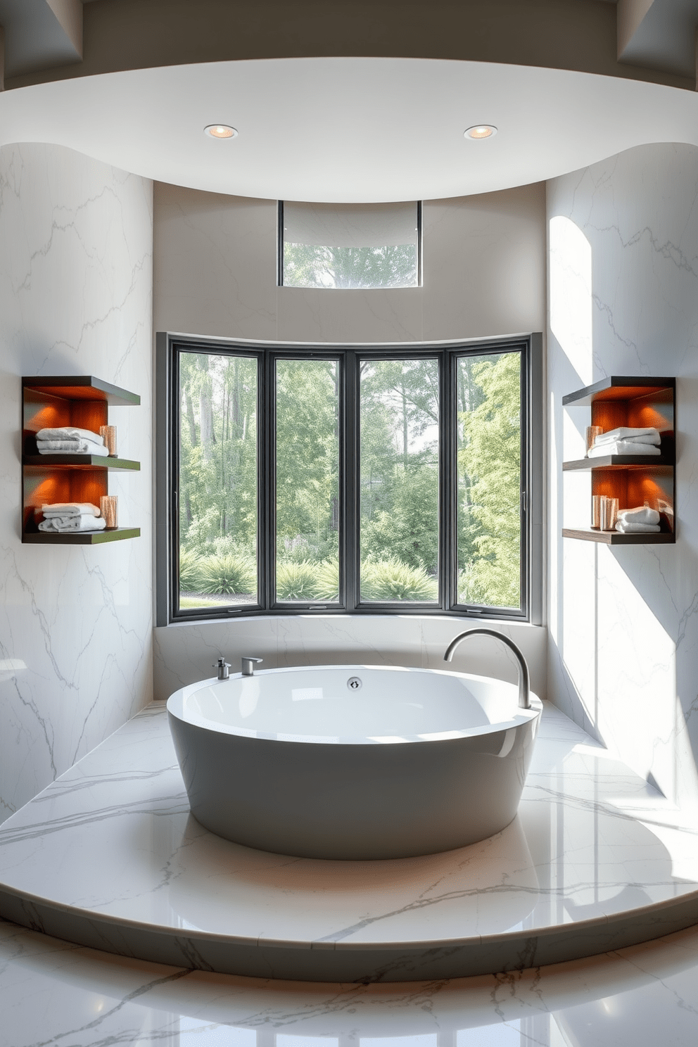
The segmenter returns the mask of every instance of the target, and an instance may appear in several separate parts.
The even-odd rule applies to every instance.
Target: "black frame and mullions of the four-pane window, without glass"
[[[182,352],[257,359],[257,542],[256,604],[182,610],[179,593],[179,358]],[[458,604],[456,495],[456,369],[463,356],[521,354],[521,607]],[[359,359],[436,358],[440,361],[440,569],[436,603],[361,603],[359,599]],[[275,470],[274,411],[277,359],[337,359],[339,367],[339,548],[340,589],[337,603],[278,602],[274,597]],[[446,380],[444,380],[446,377]],[[543,586],[542,513],[542,336],[375,346],[299,344],[238,339],[156,336],[156,623],[170,625],[204,620],[288,615],[449,616],[540,624]],[[342,550],[343,554],[342,555]],[[445,560],[445,563],[443,562]],[[442,565],[443,564],[443,565]]]

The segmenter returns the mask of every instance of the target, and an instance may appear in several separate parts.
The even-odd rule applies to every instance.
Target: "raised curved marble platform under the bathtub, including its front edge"
[[[388,862],[255,851],[192,818],[164,706],[152,705],[4,823],[0,914],[205,971],[449,978],[698,922],[698,834],[548,706],[519,816],[490,840]]]

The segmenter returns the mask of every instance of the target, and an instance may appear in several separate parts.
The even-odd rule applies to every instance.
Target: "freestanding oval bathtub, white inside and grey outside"
[[[467,673],[320,666],[192,684],[167,715],[211,832],[303,857],[408,857],[514,819],[542,709],[517,694]]]

